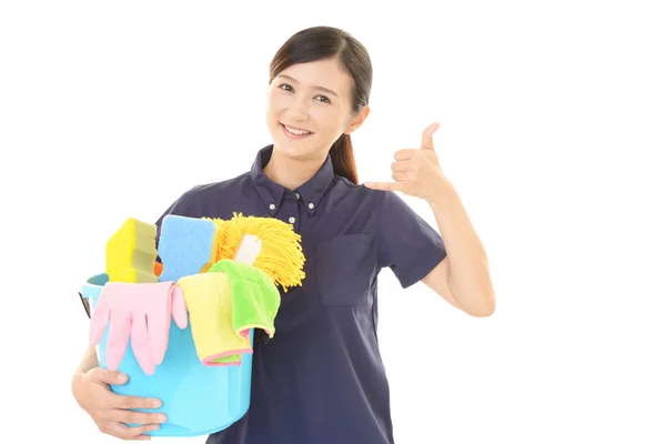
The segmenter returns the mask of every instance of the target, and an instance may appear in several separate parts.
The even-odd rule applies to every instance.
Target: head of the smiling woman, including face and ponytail
[[[294,34],[271,62],[274,152],[315,165],[330,153],[335,173],[357,184],[350,134],[367,118],[371,87],[370,56],[356,39],[325,27]]]

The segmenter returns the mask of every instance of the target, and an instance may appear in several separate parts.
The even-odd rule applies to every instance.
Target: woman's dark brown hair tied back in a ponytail
[[[270,82],[280,72],[296,63],[336,58],[354,80],[352,111],[357,113],[370,101],[372,63],[367,51],[349,32],[332,27],[312,27],[293,34],[271,61]],[[342,134],[331,147],[335,174],[359,184],[356,161],[349,134]]]

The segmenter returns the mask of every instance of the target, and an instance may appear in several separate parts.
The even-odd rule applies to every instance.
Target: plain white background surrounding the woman
[[[382,273],[396,442],[666,442],[663,2],[238,3],[0,7],[0,442],[115,441],[70,393],[75,290],[125,218],[250,168],[269,62],[313,24],[374,63],[361,180],[441,122],[497,293],[473,319]]]

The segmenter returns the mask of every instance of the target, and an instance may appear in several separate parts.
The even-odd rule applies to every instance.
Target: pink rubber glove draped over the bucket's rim
[[[188,326],[183,291],[174,282],[107,283],[90,322],[90,346],[102,340],[107,326],[107,367],[118,370],[130,339],[132,351],[148,375],[164,360],[171,319]]]

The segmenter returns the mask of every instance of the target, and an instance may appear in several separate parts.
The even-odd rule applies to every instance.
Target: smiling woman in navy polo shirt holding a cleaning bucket
[[[271,63],[273,144],[249,172],[189,190],[158,221],[242,212],[278,218],[302,235],[305,280],[282,294],[275,336],[255,344],[250,410],[210,444],[393,443],[376,337],[383,268],[403,287],[422,281],[471,315],[494,310],[483,246],[437,162],[436,125],[421,147],[396,152],[394,182],[357,184],[350,134],[367,118],[371,83],[370,58],[347,33],[316,27],[294,34]],[[395,191],[425,199],[442,236]],[[90,350],[73,393],[102,432],[147,438],[164,418],[129,408],[159,404],[110,392],[122,376],[97,369]]]

